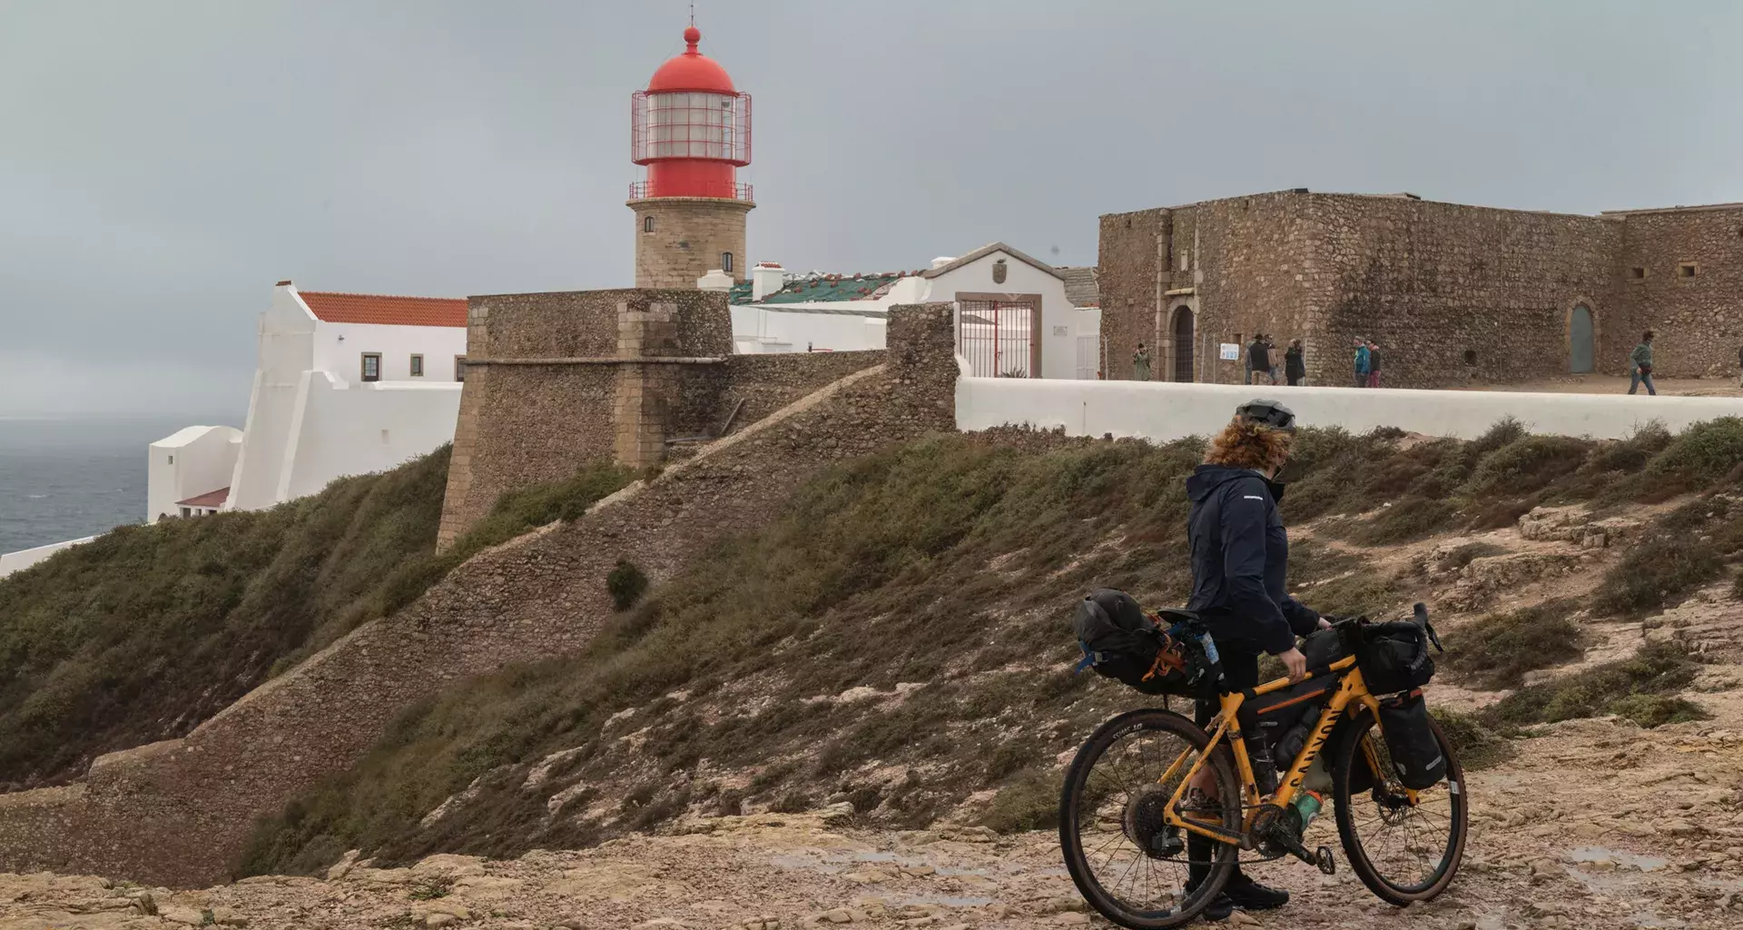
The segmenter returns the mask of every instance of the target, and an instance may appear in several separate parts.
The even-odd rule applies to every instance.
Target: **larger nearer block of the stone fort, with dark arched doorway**
[[[1131,377],[1135,342],[1171,335],[1156,309],[1190,300],[1199,356],[1224,342],[1245,351],[1260,332],[1279,349],[1299,337],[1311,382],[1340,386],[1360,335],[1380,344],[1382,384],[1450,387],[1565,375],[1569,314],[1586,304],[1598,368],[1616,372],[1631,347],[1609,325],[1624,314],[1619,244],[1612,218],[1410,197],[1276,192],[1109,215],[1103,333],[1114,375]],[[1154,370],[1163,377],[1166,359]],[[1201,380],[1245,377],[1241,361],[1210,370]]]

